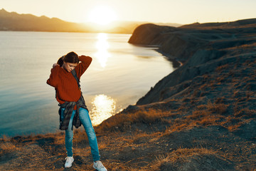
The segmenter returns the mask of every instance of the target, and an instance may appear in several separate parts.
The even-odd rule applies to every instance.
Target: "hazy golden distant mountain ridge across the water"
[[[123,21],[114,22],[111,28],[97,28],[92,24],[78,24],[63,21],[47,16],[34,16],[32,14],[17,14],[0,10],[0,31],[60,31],[60,32],[106,32],[106,33],[132,33],[134,29],[147,22]],[[160,25],[160,24],[159,24]],[[181,26],[181,24],[166,24],[168,26]]]

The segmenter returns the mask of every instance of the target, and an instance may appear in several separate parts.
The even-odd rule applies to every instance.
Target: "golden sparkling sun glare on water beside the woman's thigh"
[[[92,125],[99,125],[103,120],[114,115],[116,102],[107,95],[96,95],[92,100]]]

